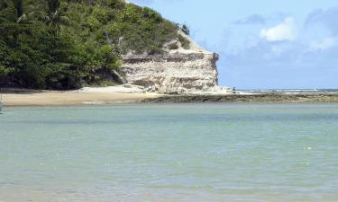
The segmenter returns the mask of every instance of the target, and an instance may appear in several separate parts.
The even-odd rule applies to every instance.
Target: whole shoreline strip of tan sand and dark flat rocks
[[[37,91],[5,89],[4,106],[69,106],[106,105],[116,103],[203,103],[203,102],[263,102],[304,103],[338,102],[338,93],[201,93],[165,95],[144,92],[138,88],[98,87],[77,91]]]

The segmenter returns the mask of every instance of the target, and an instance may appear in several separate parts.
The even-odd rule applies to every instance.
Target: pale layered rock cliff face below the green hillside
[[[122,73],[125,83],[144,86],[148,92],[166,94],[213,92],[217,88],[218,55],[210,53],[190,40],[182,48],[178,40],[170,41],[177,49],[165,49],[162,55],[133,55],[123,57]]]

